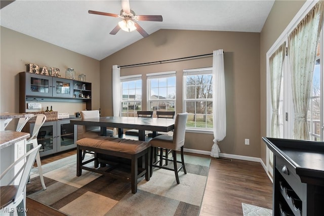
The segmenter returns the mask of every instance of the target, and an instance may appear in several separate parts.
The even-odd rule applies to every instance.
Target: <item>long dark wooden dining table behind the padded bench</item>
[[[100,126],[101,135],[106,136],[106,127],[118,128],[118,137],[123,137],[123,129],[138,129],[141,141],[145,141],[145,131],[152,131],[153,137],[156,132],[169,132],[174,129],[175,119],[170,118],[143,118],[143,117],[120,117],[107,116],[99,118],[73,118],[70,120],[72,124],[86,126]]]

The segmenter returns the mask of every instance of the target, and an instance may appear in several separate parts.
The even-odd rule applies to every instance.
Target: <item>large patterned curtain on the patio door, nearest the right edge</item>
[[[323,19],[323,5],[319,1],[289,35],[289,56],[292,67],[292,92],[295,110],[294,139],[309,140],[307,111],[313,70]]]

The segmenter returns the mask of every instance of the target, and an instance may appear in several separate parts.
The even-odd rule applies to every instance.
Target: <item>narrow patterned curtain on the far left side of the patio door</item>
[[[282,65],[285,59],[286,42],[282,44],[269,58],[270,69],[270,92],[272,117],[270,137],[280,138],[278,108],[282,80]]]

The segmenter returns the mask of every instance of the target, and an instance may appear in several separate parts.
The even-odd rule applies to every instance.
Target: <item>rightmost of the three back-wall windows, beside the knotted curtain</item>
[[[213,69],[183,71],[184,112],[188,112],[187,128],[213,130]]]

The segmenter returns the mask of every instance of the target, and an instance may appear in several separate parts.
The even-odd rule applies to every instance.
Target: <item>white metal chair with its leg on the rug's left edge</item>
[[[29,120],[35,121],[35,123],[34,123],[34,128],[32,130],[31,137],[27,140],[27,145],[32,145],[33,148],[36,148],[38,146],[37,135],[39,129],[43,126],[44,122],[46,121],[46,115],[37,114],[30,117]],[[44,177],[43,177],[43,169],[41,164],[41,157],[39,157],[39,152],[37,152],[36,155],[36,163],[37,163],[39,178],[41,178],[43,190],[46,190]]]

